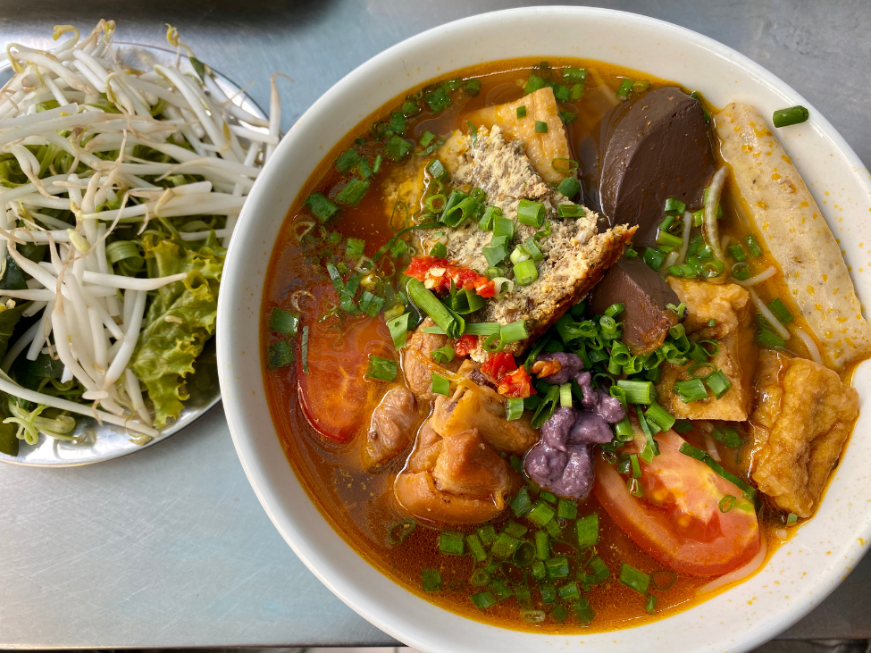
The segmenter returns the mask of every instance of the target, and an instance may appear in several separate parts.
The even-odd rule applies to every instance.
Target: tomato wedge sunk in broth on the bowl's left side
[[[318,307],[335,306],[332,289],[315,290]],[[364,425],[371,399],[379,391],[377,381],[364,374],[369,355],[395,358],[392,339],[381,317],[351,318],[338,329],[338,319],[319,322],[320,310],[306,312],[308,326],[308,373],[302,357],[297,359],[299,404],[308,423],[323,437],[339,442],[353,438]]]

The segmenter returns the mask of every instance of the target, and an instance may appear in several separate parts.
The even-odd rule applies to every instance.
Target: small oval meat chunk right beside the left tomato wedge
[[[372,414],[363,450],[364,467],[380,467],[405,451],[415,439],[425,410],[411,390],[400,385],[390,388]]]

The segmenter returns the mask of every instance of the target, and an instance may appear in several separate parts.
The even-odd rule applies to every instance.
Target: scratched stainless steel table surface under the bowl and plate
[[[0,2],[0,42],[106,18],[163,45],[164,22],[268,105],[282,71],[286,130],[373,54],[445,21],[522,3],[440,0]],[[867,0],[615,0],[723,41],[798,88],[871,163]],[[615,34],[615,38],[620,38]],[[639,64],[643,68],[643,65]],[[867,437],[858,433],[857,437]],[[783,637],[871,637],[871,557]],[[216,407],[170,440],[102,465],[0,465],[0,647],[389,645],[297,560],[257,503]]]

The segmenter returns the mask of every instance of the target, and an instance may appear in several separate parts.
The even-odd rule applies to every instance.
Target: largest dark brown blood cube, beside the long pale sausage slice
[[[610,117],[599,194],[610,224],[638,225],[636,245],[654,245],[668,197],[700,208],[714,174],[708,123],[699,100],[656,88]]]

